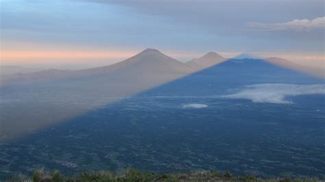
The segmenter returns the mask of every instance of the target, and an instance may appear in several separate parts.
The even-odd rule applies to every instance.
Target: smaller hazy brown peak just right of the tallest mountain
[[[215,66],[216,64],[224,62],[225,60],[226,59],[224,57],[222,57],[221,55],[219,55],[215,52],[209,52],[200,58],[197,58],[197,59],[187,62],[186,64],[191,66],[195,70],[202,70],[202,69],[208,68],[210,66]]]

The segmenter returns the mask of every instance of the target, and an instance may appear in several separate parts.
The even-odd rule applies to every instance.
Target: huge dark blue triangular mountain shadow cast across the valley
[[[324,178],[324,94],[288,96],[292,104],[224,97],[264,83],[325,81],[263,60],[227,60],[1,144],[0,176],[134,167]]]

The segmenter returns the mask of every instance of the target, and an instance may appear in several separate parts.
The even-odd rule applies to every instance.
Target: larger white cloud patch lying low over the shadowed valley
[[[263,83],[245,86],[234,94],[221,96],[228,99],[250,99],[254,103],[291,103],[286,96],[325,94],[325,84],[296,85],[285,83]]]

